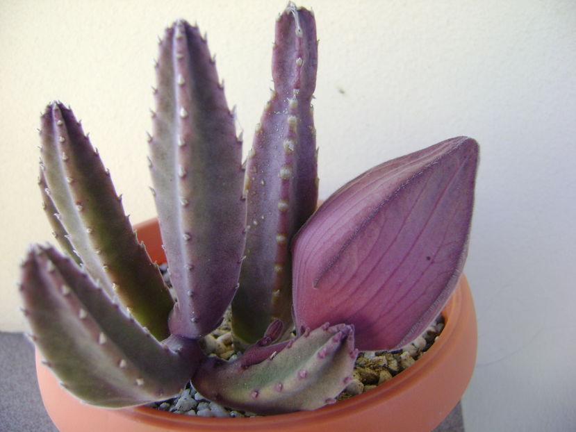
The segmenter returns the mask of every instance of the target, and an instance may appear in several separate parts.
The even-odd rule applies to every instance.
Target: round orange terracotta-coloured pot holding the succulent
[[[137,226],[153,260],[164,260],[156,220]],[[445,328],[414,365],[377,388],[315,411],[252,418],[205,418],[153,408],[97,408],[70,395],[36,356],[44,406],[61,432],[349,432],[434,429],[461,398],[476,360],[476,316],[462,276],[443,310]]]

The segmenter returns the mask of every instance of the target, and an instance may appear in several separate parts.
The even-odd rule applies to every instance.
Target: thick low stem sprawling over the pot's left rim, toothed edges
[[[20,293],[45,365],[90,404],[120,408],[170,397],[202,356],[194,340],[158,342],[54,249],[28,254]]]

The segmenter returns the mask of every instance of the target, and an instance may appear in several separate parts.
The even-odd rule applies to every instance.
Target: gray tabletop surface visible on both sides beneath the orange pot
[[[22,333],[0,332],[0,432],[58,432],[40,393],[34,349]],[[434,432],[463,432],[460,404]]]

